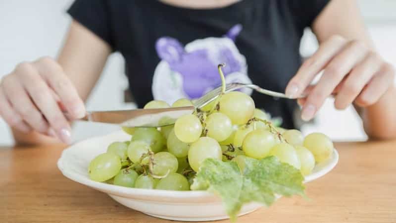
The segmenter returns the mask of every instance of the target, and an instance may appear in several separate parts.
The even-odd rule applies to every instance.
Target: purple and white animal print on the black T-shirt
[[[152,94],[155,100],[172,104],[180,98],[196,99],[221,85],[217,70],[225,63],[226,83],[251,83],[247,76],[246,58],[234,41],[242,30],[233,26],[221,38],[208,37],[188,43],[184,48],[176,39],[161,37],[155,49],[161,61],[154,70]],[[243,89],[251,94],[251,89]]]

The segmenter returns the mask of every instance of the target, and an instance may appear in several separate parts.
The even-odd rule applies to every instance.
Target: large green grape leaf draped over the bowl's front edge
[[[259,202],[270,206],[276,195],[304,195],[300,171],[276,157],[262,160],[246,158],[244,172],[237,163],[206,159],[194,179],[192,190],[207,189],[219,195],[231,221],[245,203]]]

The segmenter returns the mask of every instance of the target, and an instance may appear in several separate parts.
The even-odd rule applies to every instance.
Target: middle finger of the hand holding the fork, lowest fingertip
[[[351,41],[328,63],[319,82],[307,97],[301,112],[303,120],[310,120],[315,115],[325,99],[366,54],[367,49],[360,42]]]

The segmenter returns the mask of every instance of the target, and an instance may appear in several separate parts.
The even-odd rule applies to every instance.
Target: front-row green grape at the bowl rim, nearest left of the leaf
[[[172,172],[159,180],[155,189],[158,190],[189,190],[189,181],[180,173]]]

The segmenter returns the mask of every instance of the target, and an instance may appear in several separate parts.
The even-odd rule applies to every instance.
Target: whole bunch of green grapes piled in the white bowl
[[[172,106],[151,101],[144,109],[192,105],[188,99]],[[273,126],[269,115],[239,91],[223,90],[215,101],[181,116],[173,125],[123,129],[132,135],[131,140],[110,144],[106,153],[92,160],[92,180],[134,188],[189,190],[205,159],[236,162],[243,172],[246,157],[268,156],[307,175],[316,163],[330,159],[334,149],[322,133],[303,137],[296,129]]]

